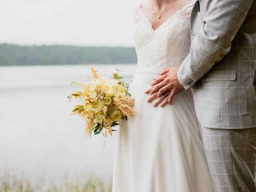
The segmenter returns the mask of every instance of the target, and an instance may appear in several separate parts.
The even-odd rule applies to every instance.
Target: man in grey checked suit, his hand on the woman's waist
[[[170,104],[193,87],[216,192],[256,192],[256,1],[200,0],[198,8],[190,54],[146,93],[161,98],[170,90],[164,101]]]

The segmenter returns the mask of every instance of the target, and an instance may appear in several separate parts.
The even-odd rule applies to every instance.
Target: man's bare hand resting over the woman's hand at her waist
[[[178,81],[178,70],[179,67],[166,68],[163,72],[160,73],[160,76],[154,78],[150,89],[146,90],[145,92],[145,94],[151,95],[148,100],[152,101],[154,98],[160,98],[161,95],[166,92],[166,90],[170,90],[167,102],[168,104],[171,104],[174,95],[183,89],[183,86]],[[164,86],[166,90],[164,89]],[[156,92],[158,93],[154,94]]]

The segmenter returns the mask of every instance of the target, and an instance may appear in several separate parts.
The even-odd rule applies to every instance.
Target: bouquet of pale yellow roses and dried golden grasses
[[[116,69],[117,70],[117,69]],[[100,76],[98,71],[91,68],[92,76],[89,83],[72,82],[81,87],[68,96],[71,101],[77,99],[80,104],[75,105],[71,115],[79,115],[86,120],[85,131],[90,135],[102,132],[107,137],[107,132],[112,136],[114,126],[120,125],[121,120],[131,118],[136,112],[132,108],[134,100],[128,93],[128,84],[114,72],[111,78]],[[105,132],[103,133],[103,130]]]

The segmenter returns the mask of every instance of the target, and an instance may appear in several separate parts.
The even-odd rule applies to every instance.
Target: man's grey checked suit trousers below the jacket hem
[[[206,158],[216,192],[256,191],[256,128],[202,128]]]

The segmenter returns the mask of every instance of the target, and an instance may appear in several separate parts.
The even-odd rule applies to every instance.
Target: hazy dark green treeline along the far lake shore
[[[134,47],[0,44],[0,66],[136,63]]]

